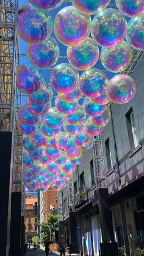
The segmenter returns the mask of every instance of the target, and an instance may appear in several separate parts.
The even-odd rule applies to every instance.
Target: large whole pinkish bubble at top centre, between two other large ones
[[[54,20],[54,33],[63,45],[77,45],[88,37],[91,30],[90,15],[73,6],[61,9]]]

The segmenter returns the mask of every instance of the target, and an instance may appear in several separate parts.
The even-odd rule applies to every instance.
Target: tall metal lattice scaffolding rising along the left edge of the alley
[[[14,139],[13,191],[24,194],[22,177],[23,136],[18,131],[21,93],[15,88],[16,65],[20,65],[16,24],[18,0],[0,0],[0,131],[10,131]],[[24,208],[24,200],[23,208]]]

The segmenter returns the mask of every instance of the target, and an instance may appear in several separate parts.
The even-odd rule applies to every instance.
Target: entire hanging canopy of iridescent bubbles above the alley
[[[100,59],[106,70],[121,72],[131,63],[132,48],[144,49],[144,4],[115,0],[117,9],[112,9],[107,8],[110,0],[72,0],[53,22],[48,10],[63,0],[29,2],[18,12],[18,35],[27,42],[32,65],[20,65],[16,74],[17,89],[27,94],[26,106],[18,112],[24,181],[29,191],[45,192],[50,186],[59,191],[82,163],[82,151],[92,148],[92,136],[110,122],[107,103],[127,103],[135,95],[130,76],[119,73],[109,80],[95,67]],[[70,64],[54,66],[48,83],[38,68],[52,67],[59,59],[53,29],[67,46]]]

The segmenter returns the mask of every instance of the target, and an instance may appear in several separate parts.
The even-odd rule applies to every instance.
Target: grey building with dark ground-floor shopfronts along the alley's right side
[[[138,60],[127,72],[137,85],[135,97],[110,105],[111,121],[73,173],[75,233],[70,225],[70,188],[59,193],[60,233],[68,245],[75,236],[73,243],[82,255],[103,251],[107,256],[136,256],[144,249],[144,54],[135,56]],[[115,253],[102,249],[110,243]]]

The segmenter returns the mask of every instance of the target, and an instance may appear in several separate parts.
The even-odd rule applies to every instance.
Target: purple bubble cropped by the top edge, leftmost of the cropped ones
[[[62,4],[63,0],[29,0],[29,2],[38,9],[51,10]]]

